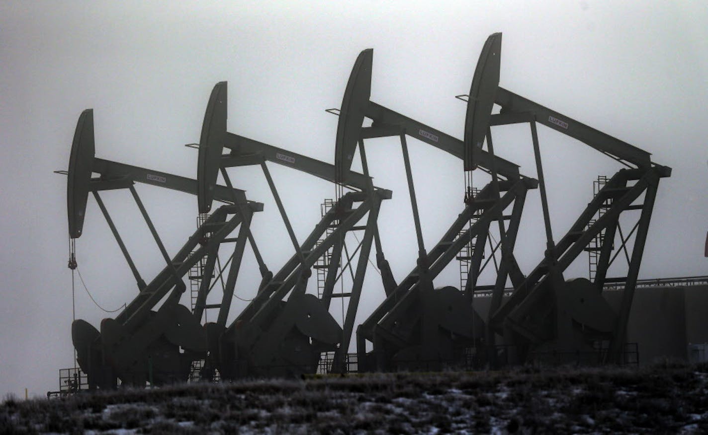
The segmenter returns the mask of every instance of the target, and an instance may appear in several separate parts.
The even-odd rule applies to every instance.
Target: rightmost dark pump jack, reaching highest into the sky
[[[499,289],[495,289],[489,326],[504,337],[511,363],[545,359],[544,356],[550,354],[555,354],[554,362],[596,364],[599,358],[599,362],[621,363],[627,320],[658,182],[670,176],[671,168],[653,163],[646,151],[501,88],[498,86],[500,54],[501,33],[495,33],[484,45],[475,72],[475,80],[479,80],[472,84],[470,101],[474,101],[474,105],[468,105],[468,121],[470,108],[474,116],[472,123],[467,124],[470,128],[465,130],[464,166],[465,170],[481,166],[485,133],[487,145],[491,146],[490,126],[528,122],[539,177],[547,249],[544,260],[523,282],[514,284],[508,300],[503,301]],[[501,110],[492,115],[495,104]],[[577,139],[627,167],[607,180],[557,243],[549,219],[537,123]],[[625,236],[619,217],[632,211],[639,211],[639,218]],[[630,255],[627,247],[635,232]],[[617,241],[619,248],[613,257]],[[586,250],[599,254],[593,281],[566,281],[564,271]],[[627,257],[627,276],[607,277],[607,268],[622,250]],[[602,295],[603,285],[607,282],[624,282],[622,304],[617,313]],[[594,361],[581,361],[583,354],[590,355]],[[559,355],[566,355],[569,361],[559,360]]]

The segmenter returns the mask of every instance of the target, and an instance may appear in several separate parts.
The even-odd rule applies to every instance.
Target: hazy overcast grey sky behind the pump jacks
[[[503,32],[501,86],[653,153],[673,168],[658,192],[640,278],[706,274],[708,230],[708,6],[704,2],[28,2],[0,1],[0,159],[4,249],[0,268],[0,394],[56,390],[73,365],[72,274],[67,269],[66,169],[82,110],[93,108],[96,156],[196,176],[207,98],[229,81],[229,131],[333,163],[336,117],[351,66],[374,48],[372,100],[456,137],[486,37]],[[528,127],[493,131],[498,154],[535,176]],[[619,167],[539,127],[556,238]],[[375,184],[394,191],[379,226],[396,279],[415,263],[408,192],[396,139],[368,142]],[[426,245],[462,210],[462,163],[409,140]],[[334,189],[270,165],[299,240]],[[253,233],[270,269],[292,255],[263,175],[230,172],[265,204]],[[483,182],[483,178],[478,180]],[[195,228],[196,198],[138,186],[171,254]],[[144,279],[162,267],[127,192],[103,195]],[[516,253],[530,272],[544,250],[539,194],[530,192]],[[353,240],[355,241],[355,240]],[[137,293],[130,269],[89,199],[79,269],[105,308]],[[619,263],[619,262],[618,262]],[[622,265],[617,266],[617,275]],[[247,253],[236,294],[251,298],[258,270]],[[586,276],[581,256],[566,278]],[[77,277],[78,278],[78,277]],[[360,315],[382,300],[367,272]],[[458,285],[457,266],[438,285]],[[76,316],[105,317],[76,286]],[[234,301],[232,317],[244,303]]]

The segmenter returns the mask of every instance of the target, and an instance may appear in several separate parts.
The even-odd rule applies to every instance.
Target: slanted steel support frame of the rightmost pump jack
[[[648,169],[620,170],[598,192],[598,195],[588,204],[586,210],[583,211],[571,229],[559,240],[554,252],[556,261],[549,263],[548,260],[544,260],[544,262],[539,264],[520,286],[516,286],[515,292],[509,300],[493,313],[491,322],[493,327],[498,332],[512,330],[515,335],[524,337],[524,340],[533,344],[556,340],[566,332],[565,330],[567,330],[569,325],[554,325],[550,327],[549,325],[554,322],[551,318],[544,316],[551,312],[547,311],[547,314],[543,315],[543,310],[539,309],[539,303],[547,301],[549,294],[561,295],[561,299],[566,301],[564,303],[570,304],[570,306],[565,308],[563,306],[556,307],[556,315],[558,310],[567,308],[566,311],[573,313],[571,318],[575,323],[586,325],[588,327],[587,330],[591,331],[588,332],[591,334],[588,336],[588,340],[593,339],[593,337],[595,340],[610,340],[610,349],[605,359],[608,362],[619,362],[636,279],[641,265],[641,256],[649,229],[651,209],[653,209],[653,202],[656,197],[656,188],[658,187],[659,179],[669,175],[670,170],[663,166],[654,166]],[[634,182],[634,185],[629,185],[629,182]],[[643,202],[635,204],[636,200],[642,195],[644,195]],[[593,216],[595,216],[600,207],[603,207],[608,198],[612,199],[612,205],[600,219],[591,224]],[[636,238],[634,239],[632,258],[629,262],[629,272],[624,280],[624,295],[619,313],[615,316],[612,311],[607,310],[603,312],[588,311],[590,308],[584,310],[576,299],[585,299],[587,296],[582,291],[578,291],[578,294],[569,294],[567,297],[570,299],[568,299],[563,296],[569,291],[566,290],[565,282],[562,279],[558,280],[553,277],[559,276],[562,278],[564,270],[583,252],[590,241],[599,233],[605,231],[605,237],[600,246],[601,254],[598,274],[595,282],[593,282],[595,296],[600,297],[600,291],[607,274],[607,267],[610,263],[608,259],[612,245],[615,242],[614,235],[618,226],[619,216],[625,211],[635,209],[641,209],[641,216],[637,226]],[[606,319],[614,318],[615,320],[611,326],[608,326],[607,322],[593,322],[590,319],[593,316]],[[532,320],[528,320],[529,318]],[[594,335],[592,335],[593,333]],[[559,343],[558,345],[559,347],[573,347],[578,344]]]

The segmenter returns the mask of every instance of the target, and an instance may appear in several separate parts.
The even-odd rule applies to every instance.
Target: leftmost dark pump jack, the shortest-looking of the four
[[[202,132],[202,140],[204,137]],[[224,205],[188,238],[176,255],[169,257],[134,184],[146,183],[197,195],[197,180],[96,158],[93,110],[90,109],[81,113],[76,124],[69,169],[58,172],[68,176],[67,208],[69,237],[72,240],[69,267],[76,268],[74,243],[83,230],[90,192],[125,255],[139,290],[137,296],[115,319],[103,319],[100,332],[85,320],[75,320],[72,324],[76,359],[88,376],[89,388],[115,388],[118,378],[122,383],[135,385],[145,385],[146,381],[156,385],[185,381],[191,361],[205,358],[207,340],[200,325],[205,308],[203,302],[192,313],[179,303],[185,291],[183,277],[206,255],[215,255],[223,243],[236,241],[238,248],[253,212],[262,211],[263,204],[247,200],[243,190],[231,186],[214,186],[213,197]],[[92,177],[93,173],[99,176]],[[140,277],[99,195],[104,190],[116,189],[130,190],[166,261],[164,269],[149,284]],[[229,234],[239,226],[239,237],[229,239]],[[239,264],[240,257],[232,262],[232,270],[237,270]],[[209,273],[212,272],[213,265]],[[210,287],[202,285],[200,301],[205,300],[209,291]],[[230,305],[232,294],[233,291],[224,289],[222,307]],[[164,302],[154,311],[160,301]]]

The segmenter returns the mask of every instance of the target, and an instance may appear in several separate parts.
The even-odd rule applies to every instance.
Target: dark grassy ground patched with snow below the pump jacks
[[[708,366],[392,373],[6,398],[0,433],[708,433]]]

